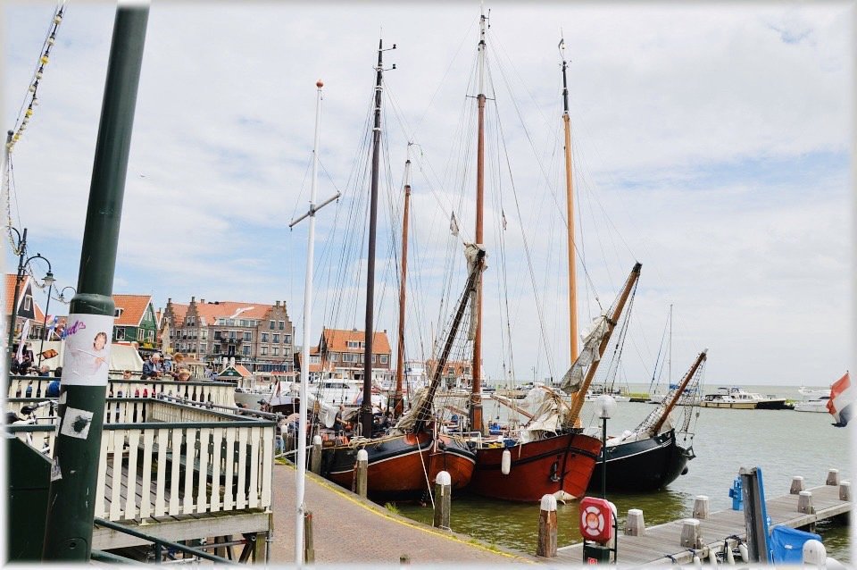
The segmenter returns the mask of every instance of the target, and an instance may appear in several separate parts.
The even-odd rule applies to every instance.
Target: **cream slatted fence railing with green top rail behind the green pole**
[[[152,398],[108,398],[104,414],[96,516],[122,521],[270,508],[276,423]],[[7,431],[53,454],[54,425]]]

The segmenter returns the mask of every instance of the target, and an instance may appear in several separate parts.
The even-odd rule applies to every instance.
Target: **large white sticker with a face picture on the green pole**
[[[67,386],[106,386],[110,368],[113,317],[70,314],[65,329],[62,383]]]

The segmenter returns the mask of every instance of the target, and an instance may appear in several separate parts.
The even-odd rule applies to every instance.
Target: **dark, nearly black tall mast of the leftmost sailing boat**
[[[393,45],[395,48],[395,44]],[[366,268],[366,337],[363,352],[363,401],[360,406],[362,435],[372,435],[372,339],[374,338],[375,302],[375,229],[378,225],[378,177],[381,154],[381,80],[384,76],[382,57],[384,40],[378,40],[378,67],[375,68],[375,123],[372,127],[372,180],[369,206],[369,252]]]

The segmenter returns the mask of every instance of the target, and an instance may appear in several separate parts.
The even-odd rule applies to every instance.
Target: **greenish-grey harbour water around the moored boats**
[[[645,391],[645,387],[639,390]],[[747,386],[745,390],[800,399],[796,387]],[[486,415],[498,414],[494,406],[486,403]],[[608,434],[633,429],[653,408],[651,404],[636,402],[618,404],[608,421]],[[499,411],[499,415],[504,414]],[[592,416],[592,405],[587,403],[581,418],[586,424]],[[769,497],[787,493],[795,475],[803,475],[808,488],[824,484],[830,468],[839,469],[842,480],[850,480],[848,432],[852,430],[839,429],[831,423],[829,414],[700,408],[693,441],[696,457],[687,464],[688,474],[679,476],[667,490],[646,494],[609,493],[608,499],[616,504],[620,525],[624,524],[629,508],[641,508],[645,524],[653,526],[690,516],[696,495],[709,497],[711,511],[730,508],[732,499],[728,497],[728,489],[742,466],[761,467]],[[430,505],[427,508],[397,504],[396,507],[404,516],[432,524]],[[481,541],[532,553],[538,538],[538,511],[537,503],[518,504],[461,495],[453,499],[450,526],[456,532]],[[582,540],[578,532],[577,501],[559,504],[557,521],[560,546]],[[819,525],[817,532],[822,535],[828,556],[842,562],[851,561],[847,527],[824,524]]]

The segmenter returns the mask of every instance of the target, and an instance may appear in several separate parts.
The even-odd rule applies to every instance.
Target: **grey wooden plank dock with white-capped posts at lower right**
[[[839,498],[839,485],[822,485],[807,490],[812,494],[814,510],[812,513],[798,511],[799,495],[797,494],[767,500],[771,528],[809,526],[825,519],[845,515],[852,510],[851,500]],[[622,534],[620,524],[618,563],[632,567],[670,566],[674,562],[689,564],[693,561],[694,555],[704,560],[710,556],[712,549],[715,553],[721,552],[725,543],[728,543],[730,548],[736,548],[738,541],[730,537],[739,537],[742,541],[746,539],[743,510],[727,509],[711,513],[707,518],[698,519],[703,544],[702,548],[698,549],[689,549],[681,545],[683,520],[648,527],[642,536]],[[562,564],[583,564],[583,544],[578,543],[557,549],[557,556],[550,561]]]

